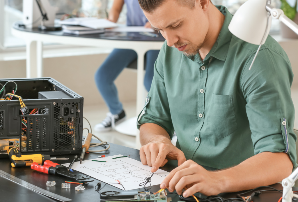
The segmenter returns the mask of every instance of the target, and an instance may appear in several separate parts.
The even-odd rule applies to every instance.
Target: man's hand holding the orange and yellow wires
[[[161,189],[168,188],[170,192],[176,190],[179,195],[184,187],[187,188],[183,193],[184,197],[189,197],[197,192],[207,196],[218,195],[222,192],[222,184],[217,172],[207,171],[192,160],[173,169],[160,184]]]

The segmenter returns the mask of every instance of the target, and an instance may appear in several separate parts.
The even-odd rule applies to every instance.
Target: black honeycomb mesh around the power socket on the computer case
[[[63,107],[75,107],[77,109],[77,102],[64,104],[57,103],[54,107],[54,144],[55,150],[67,150],[77,147],[79,143],[78,138],[78,113],[69,114],[69,116],[62,116]],[[77,111],[77,110],[76,110]]]

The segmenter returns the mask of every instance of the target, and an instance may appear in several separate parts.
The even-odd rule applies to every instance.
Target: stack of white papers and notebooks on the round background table
[[[105,28],[117,27],[114,22],[97,18],[68,18],[59,24],[63,25],[63,32],[77,35],[104,33]]]

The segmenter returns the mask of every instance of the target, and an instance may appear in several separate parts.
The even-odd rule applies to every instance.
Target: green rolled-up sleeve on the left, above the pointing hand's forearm
[[[138,116],[138,129],[142,124],[153,123],[164,128],[170,137],[173,137],[174,128],[170,114],[167,91],[164,84],[164,56],[165,44],[159,52],[154,64],[154,76],[150,91],[146,98],[146,104]]]

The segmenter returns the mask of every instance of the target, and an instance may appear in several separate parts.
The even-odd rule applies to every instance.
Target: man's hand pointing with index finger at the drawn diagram
[[[151,172],[164,166],[167,163],[166,157],[178,160],[178,166],[186,161],[184,153],[165,137],[154,138],[153,141],[141,147],[140,157],[143,165],[152,166]]]

